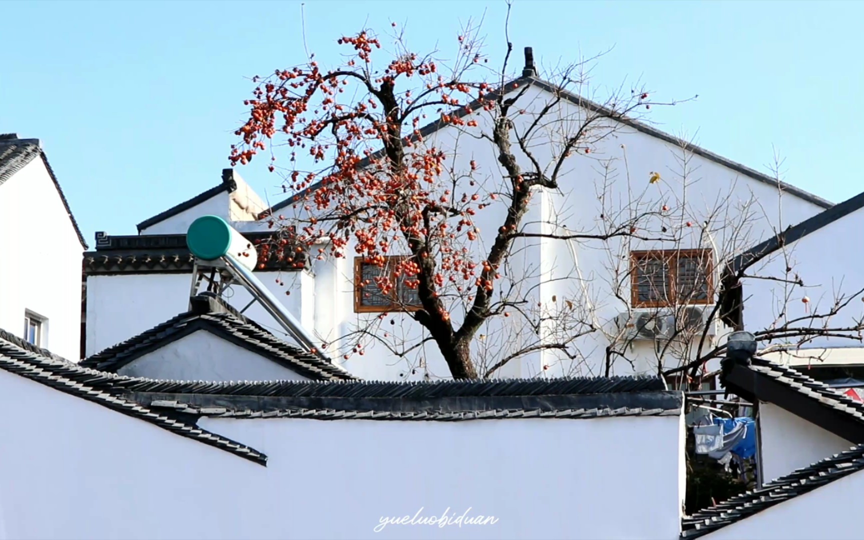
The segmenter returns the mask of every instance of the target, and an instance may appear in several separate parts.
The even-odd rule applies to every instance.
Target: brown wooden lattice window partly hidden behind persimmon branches
[[[364,257],[354,257],[354,313],[384,313],[420,309],[417,289],[408,286],[410,276],[399,276],[396,286],[384,295],[375,281],[382,274],[392,275],[396,264],[404,257],[387,257],[384,267],[367,264]]]

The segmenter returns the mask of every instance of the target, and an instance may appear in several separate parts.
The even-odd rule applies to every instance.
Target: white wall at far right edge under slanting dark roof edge
[[[864,209],[848,214],[828,226],[786,246],[783,251],[765,264],[756,264],[748,274],[772,276],[794,280],[799,276],[802,287],[766,280],[745,280],[744,324],[748,330],[769,327],[774,321],[806,317],[808,314],[827,313],[834,306],[835,298],[851,299],[846,307],[831,317],[829,327],[850,327],[864,315],[864,295],[856,294],[864,289],[864,253],[854,247],[850,233],[864,230]],[[791,268],[786,273],[786,268]],[[804,296],[809,303],[802,302]],[[781,314],[785,316],[781,317]],[[816,321],[821,327],[825,321]],[[798,322],[795,327],[808,326],[809,321]],[[793,340],[794,342],[794,340]],[[777,344],[777,342],[775,342]],[[819,338],[810,340],[808,347],[860,346],[857,340],[842,338]]]

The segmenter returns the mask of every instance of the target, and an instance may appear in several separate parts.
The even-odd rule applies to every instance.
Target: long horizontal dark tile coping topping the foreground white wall
[[[683,393],[659,378],[438,382],[129,381],[119,395],[191,416],[454,422],[676,416]],[[121,387],[123,391],[121,391]]]

